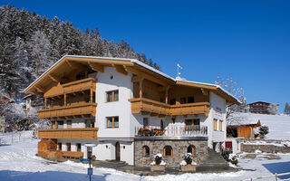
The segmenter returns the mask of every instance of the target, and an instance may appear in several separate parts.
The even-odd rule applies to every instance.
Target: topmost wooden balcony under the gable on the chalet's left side
[[[84,91],[84,90],[96,90],[97,80],[94,78],[86,78],[80,81],[72,81],[69,83],[58,84],[51,90],[44,93],[44,98],[52,98],[55,96],[62,96],[64,94]]]

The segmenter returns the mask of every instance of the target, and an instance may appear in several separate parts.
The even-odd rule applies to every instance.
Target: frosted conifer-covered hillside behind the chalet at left
[[[21,90],[65,54],[133,58],[160,69],[128,43],[108,42],[97,27],[82,32],[68,21],[51,21],[11,5],[0,7],[0,52],[0,91],[16,101],[23,97]]]

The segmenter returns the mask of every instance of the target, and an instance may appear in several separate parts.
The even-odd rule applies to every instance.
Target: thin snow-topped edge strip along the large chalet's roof
[[[181,82],[189,82],[189,83],[194,83],[194,84],[200,84],[200,85],[207,85],[213,88],[217,88],[218,90],[221,90],[222,92],[224,92],[225,94],[227,94],[228,97],[230,97],[233,100],[236,100],[238,103],[240,103],[239,100],[237,100],[237,98],[235,96],[233,96],[232,94],[230,94],[227,90],[223,89],[222,87],[220,87],[219,85],[216,84],[211,84],[211,83],[203,83],[203,82],[198,82],[198,81],[186,81],[186,80],[180,80],[179,78],[172,78],[169,75],[167,75],[166,73],[156,70],[153,67],[149,66],[148,64],[145,64],[144,62],[140,62],[136,59],[127,59],[127,58],[113,58],[113,57],[98,57],[98,56],[83,56],[83,55],[64,55],[59,61],[55,62],[47,71],[44,71],[43,74],[41,76],[39,76],[34,82],[32,82],[27,88],[25,88],[23,91],[28,90],[30,87],[32,87],[34,85],[34,83],[38,80],[40,80],[48,71],[51,71],[53,69],[53,67],[55,65],[57,65],[59,62],[62,62],[63,59],[65,58],[69,58],[69,57],[74,57],[74,58],[86,58],[86,59],[101,59],[101,60],[115,60],[115,61],[123,61],[123,62],[132,62],[135,64],[140,65],[141,67],[144,67],[150,71],[153,71],[155,73],[158,73],[159,75],[169,79],[170,81],[181,81]]]

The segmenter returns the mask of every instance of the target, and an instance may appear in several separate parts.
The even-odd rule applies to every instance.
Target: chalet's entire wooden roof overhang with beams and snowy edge
[[[233,95],[215,84],[201,83],[197,81],[179,81],[169,75],[158,71],[149,65],[135,59],[65,55],[55,62],[47,71],[24,89],[25,94],[43,95],[46,90],[55,86],[59,79],[75,71],[91,68],[94,71],[103,71],[104,66],[114,67],[121,73],[142,73],[148,79],[159,82],[161,85],[185,85],[193,88],[211,90],[227,100],[227,102],[240,104]]]

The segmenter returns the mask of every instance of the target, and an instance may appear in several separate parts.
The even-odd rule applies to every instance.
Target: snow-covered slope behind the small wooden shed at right
[[[290,116],[286,115],[265,115],[244,113],[250,119],[260,119],[262,125],[269,127],[269,139],[287,139],[290,140]]]

